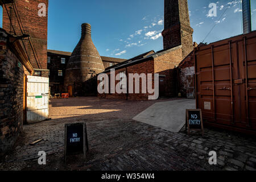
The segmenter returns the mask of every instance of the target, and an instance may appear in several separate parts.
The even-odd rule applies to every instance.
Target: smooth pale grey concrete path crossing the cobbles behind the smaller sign
[[[196,109],[195,100],[158,102],[135,116],[135,121],[178,133],[185,125],[186,109]]]

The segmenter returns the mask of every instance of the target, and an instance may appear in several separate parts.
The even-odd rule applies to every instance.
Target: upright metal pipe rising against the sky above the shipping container
[[[251,5],[250,0],[242,0],[243,34],[251,32]]]

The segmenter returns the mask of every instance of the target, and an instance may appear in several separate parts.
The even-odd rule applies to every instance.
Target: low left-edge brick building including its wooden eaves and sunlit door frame
[[[0,28],[0,155],[10,150],[22,132],[26,115],[24,76],[34,72],[16,39]]]

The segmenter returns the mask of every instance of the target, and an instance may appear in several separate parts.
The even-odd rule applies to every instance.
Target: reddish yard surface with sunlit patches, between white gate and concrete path
[[[133,118],[156,102],[177,100],[176,98],[156,101],[106,100],[97,97],[53,99],[49,102],[49,117],[84,119]]]

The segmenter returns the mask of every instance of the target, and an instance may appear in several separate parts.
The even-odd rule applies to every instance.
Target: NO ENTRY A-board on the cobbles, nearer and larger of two
[[[70,123],[65,125],[64,158],[71,154],[84,154],[88,148],[86,123]]]

